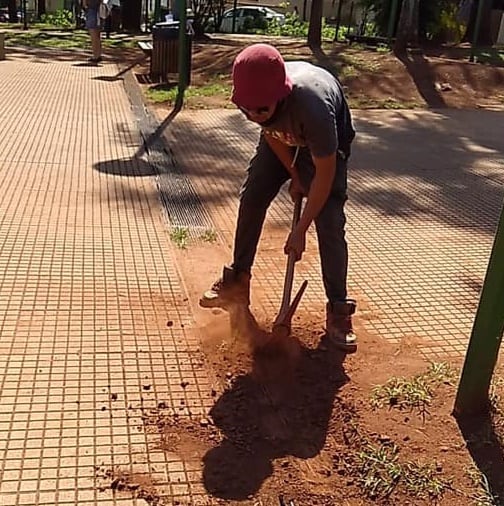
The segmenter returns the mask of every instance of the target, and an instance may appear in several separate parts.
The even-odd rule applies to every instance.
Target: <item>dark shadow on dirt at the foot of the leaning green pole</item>
[[[467,449],[482,473],[481,485],[493,499],[491,504],[504,504],[504,451],[492,415],[459,417],[457,423]]]

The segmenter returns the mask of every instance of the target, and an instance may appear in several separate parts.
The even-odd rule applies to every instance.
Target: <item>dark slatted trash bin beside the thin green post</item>
[[[152,27],[151,79],[166,82],[168,74],[178,73],[179,57],[179,25],[178,21],[165,21]],[[187,35],[187,83],[191,76],[192,36]]]

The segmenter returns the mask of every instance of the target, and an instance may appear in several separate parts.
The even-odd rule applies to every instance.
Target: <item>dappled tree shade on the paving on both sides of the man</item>
[[[443,109],[354,116],[349,211],[364,207],[389,217],[495,233],[504,198],[501,113]],[[236,196],[259,130],[239,112],[210,119],[180,115],[168,143],[202,190],[225,188]]]

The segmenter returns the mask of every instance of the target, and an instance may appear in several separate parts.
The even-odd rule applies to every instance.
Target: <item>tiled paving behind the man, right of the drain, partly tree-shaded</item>
[[[504,195],[502,113],[360,112],[347,207],[349,288],[365,328],[419,346],[430,358],[467,345]],[[237,192],[257,128],[235,111],[184,112],[168,132],[219,231],[232,246]],[[270,210],[253,289],[275,315],[290,224],[286,192]],[[320,309],[316,239],[298,265],[309,280],[300,307]]]

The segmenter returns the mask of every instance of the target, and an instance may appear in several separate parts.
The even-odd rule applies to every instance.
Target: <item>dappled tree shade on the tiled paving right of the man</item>
[[[502,115],[445,109],[387,116],[358,115],[351,200],[387,216],[493,234],[504,197]]]

